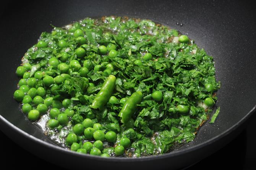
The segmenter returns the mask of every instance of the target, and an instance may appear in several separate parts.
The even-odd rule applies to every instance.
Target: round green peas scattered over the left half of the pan
[[[78,44],[83,46],[86,43],[84,38],[84,33],[82,30],[77,29],[74,32],[74,37],[76,38]],[[60,48],[66,48],[68,43],[64,40],[58,42]],[[37,48],[47,48],[48,44],[44,41],[39,41],[36,45]],[[115,44],[109,43],[107,46],[101,45],[98,47],[100,55],[108,55],[109,57],[116,57],[118,55],[117,47]],[[77,58],[83,58],[86,55],[84,48],[77,48],[75,50]],[[69,109],[72,105],[70,99],[64,99],[62,101],[53,100],[52,95],[47,94],[47,91],[53,92],[57,89],[58,84],[62,84],[67,78],[71,76],[71,73],[76,73],[81,77],[87,77],[90,70],[99,71],[101,65],[92,65],[90,60],[84,60],[83,67],[78,60],[73,59],[70,64],[66,61],[70,58],[67,53],[63,52],[60,58],[52,57],[48,60],[50,67],[53,67],[60,71],[61,75],[52,77],[47,75],[44,71],[36,71],[34,75],[31,76],[31,64],[23,63],[16,69],[16,75],[20,77],[18,87],[13,94],[14,99],[21,102],[21,109],[23,113],[28,115],[28,119],[31,121],[37,121],[42,114],[49,114],[49,121],[47,126],[50,129],[55,129],[59,126],[66,126],[70,121],[71,117],[75,114],[75,111]],[[145,54],[144,60],[152,59],[150,53]],[[139,60],[140,61],[140,60]],[[142,63],[140,61],[140,63]],[[136,64],[136,63],[135,63]],[[138,64],[138,63],[137,63]],[[107,64],[106,69],[103,71],[105,76],[109,76],[114,71],[112,64]],[[42,81],[43,86],[38,86],[37,81]],[[94,87],[93,83],[89,83],[90,87]],[[123,98],[120,101],[115,96],[110,97],[109,103],[124,104],[127,99]],[[63,108],[65,109],[64,111]],[[95,115],[91,114],[83,120],[82,124],[75,124],[73,126],[72,132],[66,137],[66,145],[70,147],[72,151],[78,153],[85,153],[91,155],[97,155],[102,157],[110,157],[107,153],[102,153],[103,142],[115,144],[117,140],[117,134],[115,132],[109,131],[104,133],[102,131],[102,125],[99,123],[94,123],[90,118],[94,118]],[[94,142],[86,141],[82,145],[78,142],[78,137],[83,136],[86,140],[94,140]],[[131,145],[129,138],[123,137],[116,143],[114,149],[115,156],[122,156],[125,153],[125,149]]]

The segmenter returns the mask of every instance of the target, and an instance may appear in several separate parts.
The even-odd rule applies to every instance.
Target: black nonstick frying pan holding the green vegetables
[[[26,3],[26,2],[24,2]],[[152,19],[180,30],[214,57],[216,78],[221,81],[216,105],[221,111],[215,124],[206,123],[196,139],[178,151],[161,156],[101,158],[60,148],[28,121],[13,99],[16,67],[26,49],[37,42],[50,24],[61,27],[84,17],[131,16]],[[1,16],[0,128],[39,157],[65,167],[122,167],[173,169],[185,167],[217,151],[232,140],[253,114],[256,104],[256,13],[252,4],[198,1],[68,1],[11,3]],[[180,27],[176,23],[182,23]]]

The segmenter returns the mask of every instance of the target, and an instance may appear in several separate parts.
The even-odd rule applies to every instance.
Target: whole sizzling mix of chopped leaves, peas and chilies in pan
[[[186,35],[114,16],[53,26],[16,74],[14,99],[28,119],[72,151],[98,156],[164,154],[192,141],[220,88],[213,58]]]

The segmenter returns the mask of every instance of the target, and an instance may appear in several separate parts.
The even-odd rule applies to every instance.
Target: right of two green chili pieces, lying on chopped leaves
[[[137,105],[141,103],[142,93],[140,91],[134,92],[131,97],[126,100],[122,110],[118,114],[121,117],[123,123],[128,122],[131,119],[132,114],[135,112]]]

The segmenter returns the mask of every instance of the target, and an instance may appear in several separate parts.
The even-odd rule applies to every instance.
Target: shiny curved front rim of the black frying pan
[[[181,149],[181,150],[177,150],[177,151],[173,151],[170,153],[165,153],[162,155],[157,155],[157,156],[144,156],[144,157],[138,157],[138,158],[127,158],[127,157],[99,157],[99,156],[92,156],[89,154],[79,154],[75,151],[70,151],[68,149],[62,148],[60,146],[57,145],[53,145],[51,143],[48,143],[46,141],[43,141],[39,138],[34,137],[33,135],[30,135],[29,133],[19,129],[18,127],[16,127],[14,124],[12,124],[11,122],[9,122],[7,119],[5,119],[1,114],[0,114],[0,122],[3,123],[5,126],[8,126],[9,128],[15,130],[16,133],[19,133],[20,135],[22,135],[24,138],[28,138],[29,140],[32,140],[32,142],[38,143],[39,145],[44,145],[45,147],[48,147],[50,149],[55,149],[57,151],[63,152],[65,154],[68,155],[75,155],[75,156],[80,156],[80,157],[84,157],[84,158],[89,158],[89,159],[100,159],[100,160],[106,160],[106,161],[110,161],[110,162],[115,162],[115,161],[121,161],[121,162],[141,162],[141,161],[145,161],[145,160],[157,160],[157,159],[162,159],[162,158],[171,158],[171,157],[175,157],[178,155],[182,155],[185,153],[190,153],[193,152],[197,149],[203,148],[206,145],[209,145],[211,143],[214,143],[218,140],[220,140],[221,138],[227,136],[228,134],[232,133],[233,131],[235,131],[241,124],[243,124],[250,116],[251,114],[254,113],[254,111],[256,111],[256,105],[254,105],[254,107],[240,120],[238,121],[236,124],[234,124],[232,127],[228,128],[227,130],[225,130],[224,132],[220,133],[219,135],[204,141],[202,143],[199,143],[197,145],[191,146],[190,148],[186,148],[186,149]],[[6,134],[8,136],[8,134]],[[15,143],[17,143],[15,141]],[[34,153],[33,153],[34,154]]]

